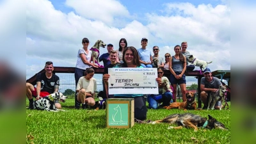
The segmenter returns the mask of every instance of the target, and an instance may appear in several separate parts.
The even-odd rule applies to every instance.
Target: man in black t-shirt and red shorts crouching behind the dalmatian
[[[51,61],[45,63],[45,73],[37,74],[36,88],[31,83],[26,83],[26,95],[29,99],[29,109],[33,109],[33,97],[41,99],[51,93],[58,92],[60,78],[52,74],[54,67]],[[61,109],[60,102],[56,102],[56,108]]]

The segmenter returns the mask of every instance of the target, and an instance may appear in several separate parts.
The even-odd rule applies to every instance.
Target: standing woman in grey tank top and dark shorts
[[[186,57],[181,53],[180,45],[174,47],[175,55],[170,57],[169,70],[171,72],[170,81],[173,86],[173,102],[176,102],[177,84],[180,85],[182,100],[186,101]]]

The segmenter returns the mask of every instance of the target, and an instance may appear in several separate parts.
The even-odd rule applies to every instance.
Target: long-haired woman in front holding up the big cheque
[[[143,68],[140,65],[139,54],[135,47],[126,47],[123,52],[122,60],[124,63],[116,65],[115,67],[131,67]],[[108,86],[109,74],[103,75],[103,81]],[[161,85],[161,78],[156,78],[159,86]],[[116,94],[114,97],[118,98],[134,98],[134,118],[138,120],[145,120],[147,118],[146,100],[142,94]]]

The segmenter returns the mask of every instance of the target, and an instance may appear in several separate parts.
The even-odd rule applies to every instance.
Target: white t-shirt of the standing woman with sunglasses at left
[[[86,65],[84,64],[84,62],[82,61],[81,57],[80,57],[80,54],[85,54],[85,57],[86,57],[86,60],[88,62],[91,61],[91,58],[92,58],[92,51],[89,51],[88,54],[86,54],[86,52],[84,51],[83,48],[80,48],[77,52],[77,61],[76,61],[76,68],[80,68],[82,70],[86,70],[86,68],[89,68],[91,67],[90,65]]]

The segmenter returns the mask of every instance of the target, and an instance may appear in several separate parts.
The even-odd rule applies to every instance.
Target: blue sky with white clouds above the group
[[[89,47],[103,40],[114,49],[120,38],[139,49],[146,37],[147,49],[157,45],[163,58],[186,41],[198,60],[212,61],[212,71],[230,70],[230,1],[27,0],[26,75],[42,70],[45,61],[75,67],[84,37]]]

